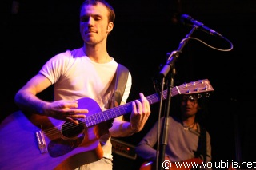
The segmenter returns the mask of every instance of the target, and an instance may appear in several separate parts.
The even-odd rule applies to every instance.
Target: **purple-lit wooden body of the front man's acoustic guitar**
[[[80,108],[89,109],[91,113],[100,111],[98,104],[90,98],[78,102]],[[77,133],[66,131],[63,134],[66,127]],[[40,136],[37,137],[36,132],[43,132],[46,148],[42,152],[38,148],[41,146],[38,144]],[[98,137],[98,126],[79,128],[78,131],[66,121],[18,111],[6,117],[0,125],[0,169],[78,168],[102,158]]]

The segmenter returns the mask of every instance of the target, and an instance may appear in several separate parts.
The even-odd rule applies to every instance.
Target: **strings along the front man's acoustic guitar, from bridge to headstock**
[[[201,81],[199,83],[199,85],[203,85],[202,89],[204,89],[205,91],[207,91],[208,89],[206,89],[206,83],[203,83],[203,81]],[[208,85],[209,85],[209,82],[208,82]],[[194,88],[196,88],[196,82],[190,82],[190,83],[186,83],[186,84],[183,84],[183,85],[180,85],[180,86],[176,86],[172,89],[172,93],[174,94],[173,96],[176,96],[178,94],[182,94],[181,92],[183,91],[183,93],[191,93],[190,92],[190,86],[193,86]],[[198,91],[198,87],[197,89],[194,89],[194,92],[192,93],[199,93],[200,91]],[[186,90],[186,91],[185,91]],[[167,91],[165,90],[163,92],[163,97],[164,99],[166,99],[166,93]],[[152,94],[148,97],[146,97],[148,99],[148,101],[150,101],[150,104],[154,104],[156,101],[159,101],[158,100],[158,97],[156,94]],[[131,102],[128,102],[126,103],[125,105],[120,105],[118,107],[114,107],[114,108],[111,108],[111,109],[107,109],[103,112],[100,112],[100,113],[94,113],[88,117],[86,117],[85,119],[79,119],[80,121],[82,121],[82,123],[85,123],[86,124],[86,127],[85,128],[89,128],[90,126],[93,126],[93,125],[97,125],[98,123],[101,123],[102,120],[103,121],[107,121],[107,120],[110,120],[111,118],[114,118],[114,117],[118,117],[118,116],[121,116],[123,112],[120,112],[120,110],[122,111],[126,111],[125,108],[129,108],[131,107]],[[116,112],[117,111],[117,112]],[[126,113],[126,112],[125,112]],[[110,116],[110,117],[109,117]],[[65,121],[64,121],[65,122]],[[62,129],[62,131],[68,131],[70,129],[74,129],[74,128],[77,128],[79,125],[75,125],[73,123],[68,123],[65,125],[62,124],[62,125],[58,125],[54,128],[49,128],[49,129],[46,129],[45,131],[43,131],[47,136],[49,135],[54,135],[54,134],[58,134],[59,132],[56,131],[56,128],[57,129]]]

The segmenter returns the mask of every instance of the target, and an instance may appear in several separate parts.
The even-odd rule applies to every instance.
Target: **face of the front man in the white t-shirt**
[[[113,29],[108,21],[109,12],[102,3],[83,6],[80,11],[80,34],[86,44],[97,45],[106,42],[107,34]]]

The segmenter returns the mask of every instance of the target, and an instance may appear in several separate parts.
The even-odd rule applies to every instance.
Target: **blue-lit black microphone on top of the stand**
[[[218,32],[210,29],[209,27],[207,26],[204,26],[204,24],[202,22],[198,22],[197,20],[195,20],[194,18],[190,17],[189,15],[187,14],[182,14],[181,16],[181,22],[184,24],[184,25],[188,25],[188,26],[198,26],[198,29],[199,30],[202,30],[208,34],[211,34],[211,35],[215,35],[215,36],[219,36],[219,37],[222,37],[221,34],[219,34]]]

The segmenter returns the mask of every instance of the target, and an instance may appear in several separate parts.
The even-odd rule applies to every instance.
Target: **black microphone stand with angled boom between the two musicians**
[[[165,150],[166,150],[166,145],[167,145],[167,132],[168,132],[168,117],[169,117],[169,112],[170,112],[170,101],[171,101],[171,89],[174,87],[174,74],[175,74],[175,62],[177,61],[179,54],[182,53],[182,49],[186,45],[190,38],[191,34],[193,34],[194,30],[198,29],[198,26],[193,26],[192,30],[190,30],[190,33],[186,35],[185,41],[180,42],[178,49],[172,53],[170,53],[170,56],[167,59],[166,65],[163,66],[161,72],[160,72],[160,77],[162,78],[162,82],[164,82],[166,75],[170,72],[170,69],[172,70],[170,79],[167,79],[167,94],[166,94],[166,108],[165,108],[165,113],[164,113],[164,120],[162,121],[162,129],[161,129],[161,145],[159,147],[159,155],[157,155],[157,160],[156,160],[156,169],[161,170],[163,167],[167,166],[166,168],[170,168],[170,164],[162,164],[165,161]],[[163,91],[162,91],[163,92]],[[161,96],[163,94],[161,93]],[[162,97],[160,104],[162,103]],[[160,105],[160,109],[162,108],[162,105]],[[160,112],[159,112],[160,113]],[[159,116],[160,117],[160,116]],[[158,121],[160,123],[160,120]],[[158,139],[158,144],[160,144],[159,139]],[[158,151],[157,151],[158,153]]]

